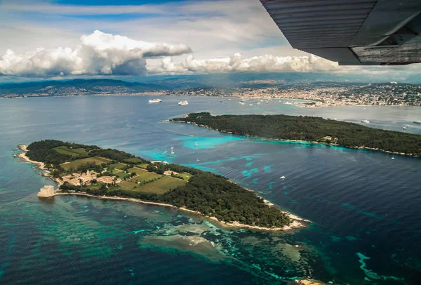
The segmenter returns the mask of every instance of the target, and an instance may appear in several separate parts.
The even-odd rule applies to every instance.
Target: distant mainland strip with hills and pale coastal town
[[[298,107],[331,107],[343,105],[375,105],[375,106],[420,106],[421,86],[416,84],[399,84],[392,81],[384,84],[355,83],[288,83],[273,81],[242,81],[232,87],[183,87],[165,88],[156,86],[122,85],[123,81],[108,80],[106,84],[74,84],[61,83],[31,88],[6,88],[0,86],[0,98],[27,98],[46,96],[83,96],[83,95],[149,95],[149,96],[200,96],[279,100],[293,100],[292,105]],[[16,84],[18,85],[18,84]],[[16,90],[19,90],[16,91]],[[297,102],[294,100],[305,100]]]

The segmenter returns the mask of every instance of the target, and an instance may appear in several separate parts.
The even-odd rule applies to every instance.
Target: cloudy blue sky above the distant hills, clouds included
[[[258,0],[0,0],[0,81],[228,72],[396,75],[293,49]]]

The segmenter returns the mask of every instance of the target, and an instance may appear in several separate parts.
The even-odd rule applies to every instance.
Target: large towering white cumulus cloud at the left
[[[0,75],[53,77],[66,75],[139,75],[147,72],[146,58],[182,55],[185,44],[149,43],[95,31],[83,35],[76,48],[37,48],[23,54],[10,49],[0,57]]]

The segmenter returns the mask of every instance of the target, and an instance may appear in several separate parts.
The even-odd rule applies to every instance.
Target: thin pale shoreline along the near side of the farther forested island
[[[192,124],[194,126],[200,126],[202,128],[208,128],[210,130],[219,131],[220,133],[229,133],[229,134],[232,134],[232,135],[239,135],[238,133],[224,131],[224,130],[220,131],[220,130],[218,130],[218,128],[211,128],[210,126],[199,125],[199,124],[197,124],[195,122],[191,122],[191,121],[174,121],[174,120],[168,119],[168,120],[163,120],[163,122]],[[246,136],[248,138],[263,138],[263,137],[258,137],[258,136],[255,136],[255,135],[247,135],[247,134],[246,135],[240,135],[240,136]],[[334,147],[345,147],[345,148],[350,149],[350,150],[374,150],[374,151],[377,151],[377,152],[385,152],[385,153],[388,153],[388,154],[403,155],[403,156],[406,156],[406,157],[418,157],[417,155],[414,155],[414,154],[406,154],[404,152],[391,152],[389,150],[380,150],[378,148],[373,148],[373,147],[359,147],[359,146],[347,147],[345,145],[338,145],[337,143],[321,143],[321,142],[314,142],[314,141],[310,141],[310,140],[288,140],[288,139],[282,139],[282,138],[263,138],[263,139],[265,139],[265,140],[281,140],[281,141],[286,141],[286,142],[297,142],[297,143],[314,143],[314,144],[321,144],[321,145],[331,145],[331,146],[334,146]]]

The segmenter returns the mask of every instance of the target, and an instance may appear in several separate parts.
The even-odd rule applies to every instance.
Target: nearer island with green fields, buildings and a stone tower
[[[59,185],[53,194],[52,186],[43,187],[39,197],[76,194],[171,206],[253,230],[290,230],[309,222],[221,175],[199,169],[60,140],[18,147],[19,157],[38,165]]]

